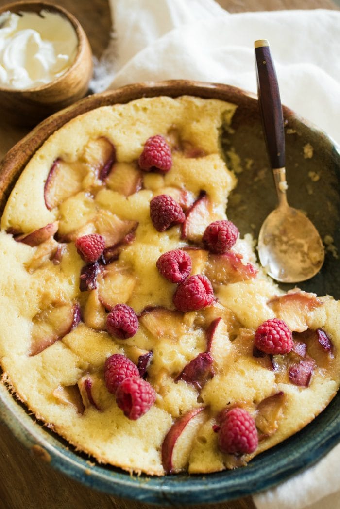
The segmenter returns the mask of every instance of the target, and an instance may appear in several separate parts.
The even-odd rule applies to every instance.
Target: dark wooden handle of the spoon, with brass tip
[[[255,41],[255,61],[258,103],[270,164],[272,169],[282,168],[285,162],[282,106],[268,41]]]

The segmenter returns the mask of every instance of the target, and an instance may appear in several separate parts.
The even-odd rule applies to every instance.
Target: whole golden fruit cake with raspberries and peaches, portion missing
[[[34,154],[0,233],[3,382],[100,463],[216,472],[307,425],[339,386],[340,306],[284,293],[226,216],[236,106],[142,98]]]

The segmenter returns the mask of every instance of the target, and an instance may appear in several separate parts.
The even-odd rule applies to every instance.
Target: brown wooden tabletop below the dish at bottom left
[[[152,509],[152,505],[122,500],[80,485],[34,457],[0,425],[1,509]],[[181,509],[184,506],[177,506]],[[193,509],[201,506],[193,505]],[[210,509],[254,509],[250,497]]]

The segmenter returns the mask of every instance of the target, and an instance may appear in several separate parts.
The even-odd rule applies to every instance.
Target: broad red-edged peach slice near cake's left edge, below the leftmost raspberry
[[[51,304],[33,318],[30,356],[61,340],[81,321],[79,304]]]

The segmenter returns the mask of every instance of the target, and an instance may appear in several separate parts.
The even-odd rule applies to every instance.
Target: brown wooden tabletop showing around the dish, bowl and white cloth
[[[185,0],[184,0],[185,1]],[[335,0],[336,1],[336,0]],[[0,6],[7,0],[0,0]],[[100,56],[111,29],[108,0],[58,0],[83,25],[93,53]],[[338,9],[331,0],[219,0],[229,12],[280,9]],[[0,121],[0,159],[28,131]],[[35,458],[0,425],[0,509],[150,509],[86,488]],[[181,506],[177,506],[178,509]],[[203,509],[203,506],[193,506]],[[210,506],[211,509],[254,509],[251,497]]]

